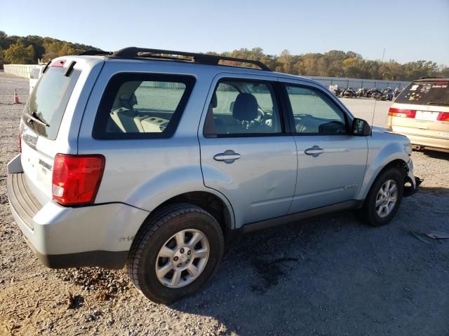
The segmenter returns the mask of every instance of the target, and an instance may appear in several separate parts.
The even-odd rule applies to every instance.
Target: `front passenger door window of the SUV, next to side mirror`
[[[287,85],[288,98],[299,134],[345,134],[344,114],[325,94],[307,87]]]

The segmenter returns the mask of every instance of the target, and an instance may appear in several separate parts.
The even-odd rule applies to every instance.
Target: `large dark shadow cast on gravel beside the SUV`
[[[382,228],[345,211],[241,237],[202,293],[170,307],[238,335],[448,335],[449,239],[412,237],[435,223],[407,206]]]

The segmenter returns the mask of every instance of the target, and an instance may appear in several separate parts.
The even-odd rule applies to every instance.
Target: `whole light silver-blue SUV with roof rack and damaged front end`
[[[342,209],[380,226],[417,189],[410,141],[314,80],[189,52],[87,54],[47,64],[8,164],[11,211],[48,267],[127,265],[173,302],[233,232]]]

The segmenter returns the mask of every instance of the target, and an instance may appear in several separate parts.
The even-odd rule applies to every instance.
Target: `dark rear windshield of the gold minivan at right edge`
[[[396,103],[418,105],[449,105],[449,82],[414,82],[395,100]]]

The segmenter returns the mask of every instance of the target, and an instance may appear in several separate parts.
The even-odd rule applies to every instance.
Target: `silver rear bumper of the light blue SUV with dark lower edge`
[[[11,213],[25,241],[51,268],[125,265],[135,233],[148,212],[127,204],[62,207],[39,204],[23,173],[8,174]],[[35,203],[37,202],[37,204]]]

